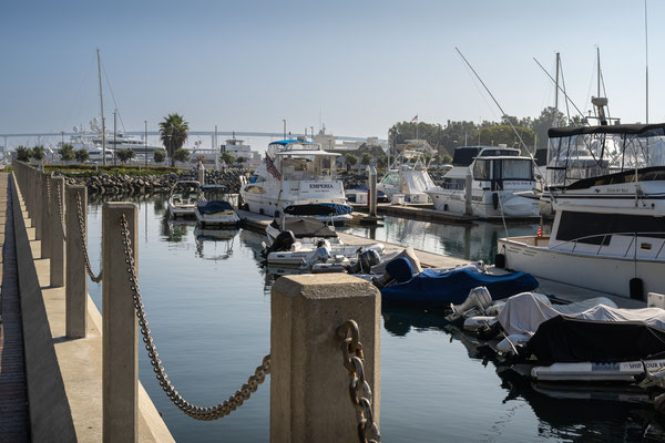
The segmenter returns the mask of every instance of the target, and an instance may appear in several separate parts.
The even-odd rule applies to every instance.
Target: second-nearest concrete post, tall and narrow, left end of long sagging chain
[[[105,203],[102,210],[103,441],[137,441],[137,321],[130,289],[120,218],[126,217],[137,259],[137,208],[132,203]]]

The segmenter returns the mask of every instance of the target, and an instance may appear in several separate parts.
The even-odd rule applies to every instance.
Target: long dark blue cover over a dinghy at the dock
[[[479,286],[487,287],[492,299],[500,300],[533,290],[539,284],[526,272],[493,276],[473,269],[453,269],[446,272],[426,269],[409,281],[383,288],[381,300],[392,303],[449,307],[450,303],[463,302],[469,291]]]

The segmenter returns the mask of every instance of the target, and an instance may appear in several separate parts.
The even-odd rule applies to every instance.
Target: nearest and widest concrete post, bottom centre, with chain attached
[[[356,320],[359,327],[378,424],[381,297],[377,288],[349,275],[280,277],[273,286],[270,311],[270,441],[358,440],[337,336],[346,320]]]

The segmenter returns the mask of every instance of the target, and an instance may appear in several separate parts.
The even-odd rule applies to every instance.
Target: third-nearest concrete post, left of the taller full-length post
[[[81,243],[88,244],[88,238],[81,238],[76,195],[81,196],[83,208],[83,229],[88,230],[88,189],[85,186],[66,186],[65,188],[65,226],[66,226],[66,285],[65,298],[65,332],[70,339],[84,338],[88,331],[88,276],[85,274],[85,257]]]

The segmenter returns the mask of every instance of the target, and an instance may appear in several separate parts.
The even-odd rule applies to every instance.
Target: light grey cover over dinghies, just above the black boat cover
[[[610,313],[612,311],[608,311],[604,315],[604,310],[598,308],[627,312]],[[508,334],[533,336],[542,322],[561,315],[590,320],[617,321],[613,320],[612,316],[615,316],[614,318],[620,318],[622,315],[630,317],[634,316],[634,311],[642,310],[647,309],[617,309],[614,301],[605,297],[590,298],[570,305],[552,305],[550,299],[542,293],[522,292],[505,301],[497,319]],[[663,312],[663,321],[665,321],[665,311],[658,310]]]

